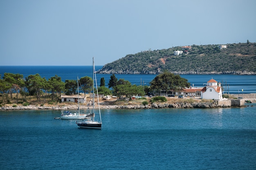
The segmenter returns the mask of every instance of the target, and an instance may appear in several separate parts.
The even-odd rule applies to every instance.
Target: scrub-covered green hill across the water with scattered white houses
[[[177,46],[141,51],[108,63],[100,74],[159,74],[165,69],[175,74],[256,74],[256,43]],[[174,51],[183,51],[174,55]]]

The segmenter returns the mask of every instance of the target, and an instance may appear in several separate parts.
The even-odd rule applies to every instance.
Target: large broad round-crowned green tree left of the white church
[[[190,86],[187,79],[168,71],[157,75],[149,84],[150,88],[155,91],[181,90],[182,88]]]

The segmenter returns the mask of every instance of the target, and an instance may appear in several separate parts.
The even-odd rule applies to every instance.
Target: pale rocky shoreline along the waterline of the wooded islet
[[[90,106],[91,107],[91,106]],[[101,105],[101,109],[157,109],[157,108],[227,108],[231,107],[225,104],[213,102],[194,102],[194,103],[153,103],[153,104],[126,104],[126,105]],[[88,106],[80,106],[80,109],[87,109]],[[4,106],[0,110],[76,110],[77,105],[69,106]]]

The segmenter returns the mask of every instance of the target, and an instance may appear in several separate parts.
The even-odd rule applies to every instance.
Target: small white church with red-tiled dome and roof
[[[201,91],[201,99],[222,99],[222,89],[220,82],[210,79]]]

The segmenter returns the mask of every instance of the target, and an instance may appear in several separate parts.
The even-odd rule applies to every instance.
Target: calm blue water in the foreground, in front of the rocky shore
[[[58,110],[0,112],[1,170],[255,170],[256,104],[103,109],[102,130]]]

